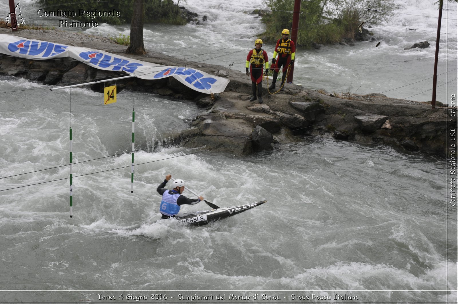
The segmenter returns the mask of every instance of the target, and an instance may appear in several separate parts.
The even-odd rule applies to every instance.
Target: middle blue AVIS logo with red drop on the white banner
[[[90,63],[103,69],[111,68],[111,71],[125,71],[127,73],[132,73],[139,66],[143,66],[141,63],[130,62],[129,60],[111,57],[108,54],[94,51],[82,52],[80,53],[80,57],[84,60],[88,60],[88,64]]]

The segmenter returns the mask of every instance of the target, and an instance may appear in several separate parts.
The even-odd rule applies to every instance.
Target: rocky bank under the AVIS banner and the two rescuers
[[[0,29],[0,33],[114,54],[123,54],[126,49],[108,38],[82,33],[43,30],[12,33],[8,29]],[[136,78],[117,81],[118,89],[194,100],[202,108],[202,113],[190,127],[180,134],[163,136],[173,138],[174,143],[180,142],[185,147],[205,146],[219,152],[246,155],[272,149],[275,143],[307,140],[308,136],[329,136],[337,140],[383,144],[447,156],[447,122],[456,114],[451,112],[452,109],[431,109],[430,104],[379,94],[334,96],[293,84],[286,84],[284,92],[276,94],[269,94],[265,84],[264,103],[251,103],[251,80],[240,71],[177,60],[161,53],[148,53],[136,59],[161,65],[186,65],[230,80],[225,92],[212,96],[188,89],[173,77],[156,81]],[[3,56],[0,67],[4,75],[24,77],[48,85],[75,81],[84,83],[116,75],[115,72],[97,70],[72,59],[38,61]],[[102,87],[103,84],[91,86],[97,91]]]

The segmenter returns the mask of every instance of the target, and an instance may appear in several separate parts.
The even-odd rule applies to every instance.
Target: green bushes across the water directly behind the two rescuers
[[[284,28],[291,30],[294,0],[269,0],[272,13],[262,18],[266,32],[262,39],[274,43]],[[367,11],[370,8],[374,11]],[[397,6],[393,0],[315,0],[302,1],[296,44],[338,43],[341,38],[354,38],[361,22],[387,21]]]

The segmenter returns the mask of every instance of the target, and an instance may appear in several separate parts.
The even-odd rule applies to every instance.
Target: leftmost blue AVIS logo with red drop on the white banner
[[[43,58],[65,52],[67,45],[60,45],[45,41],[19,40],[8,44],[11,52],[19,51],[19,54],[40,56]]]

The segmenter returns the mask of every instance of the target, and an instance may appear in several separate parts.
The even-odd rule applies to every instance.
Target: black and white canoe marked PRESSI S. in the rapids
[[[218,221],[226,217],[232,217],[233,215],[242,213],[244,211],[253,209],[256,206],[264,204],[266,201],[258,201],[257,203],[245,204],[240,206],[232,206],[220,208],[210,202],[205,201],[208,206],[211,206],[212,210],[194,211],[192,213],[177,215],[175,219],[179,225],[192,225],[202,226],[208,223]]]

